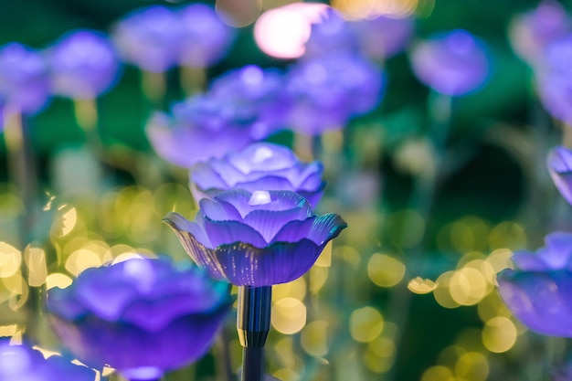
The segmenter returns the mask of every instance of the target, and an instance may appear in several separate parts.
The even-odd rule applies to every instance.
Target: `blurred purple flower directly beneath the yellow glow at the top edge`
[[[360,50],[365,56],[384,60],[395,56],[408,46],[413,36],[413,18],[378,16],[351,24]]]

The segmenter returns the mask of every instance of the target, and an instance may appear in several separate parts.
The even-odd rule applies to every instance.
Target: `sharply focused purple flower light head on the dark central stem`
[[[211,276],[238,286],[270,286],[301,277],[346,227],[335,215],[314,216],[291,191],[231,190],[203,198],[193,222],[164,221],[186,252]]]

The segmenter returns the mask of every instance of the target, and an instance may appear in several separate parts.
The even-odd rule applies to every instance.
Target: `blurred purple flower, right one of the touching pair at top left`
[[[187,5],[179,11],[181,39],[178,61],[182,66],[206,68],[224,58],[235,37],[235,29],[205,4]]]

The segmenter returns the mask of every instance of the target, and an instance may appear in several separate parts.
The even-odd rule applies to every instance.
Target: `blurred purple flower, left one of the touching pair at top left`
[[[179,16],[163,5],[136,10],[114,27],[113,40],[122,58],[155,73],[173,67],[179,58]]]

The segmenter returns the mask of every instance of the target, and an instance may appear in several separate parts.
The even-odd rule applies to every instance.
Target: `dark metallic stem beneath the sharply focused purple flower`
[[[271,286],[238,289],[237,331],[243,346],[242,381],[261,381],[264,344],[270,331]]]

